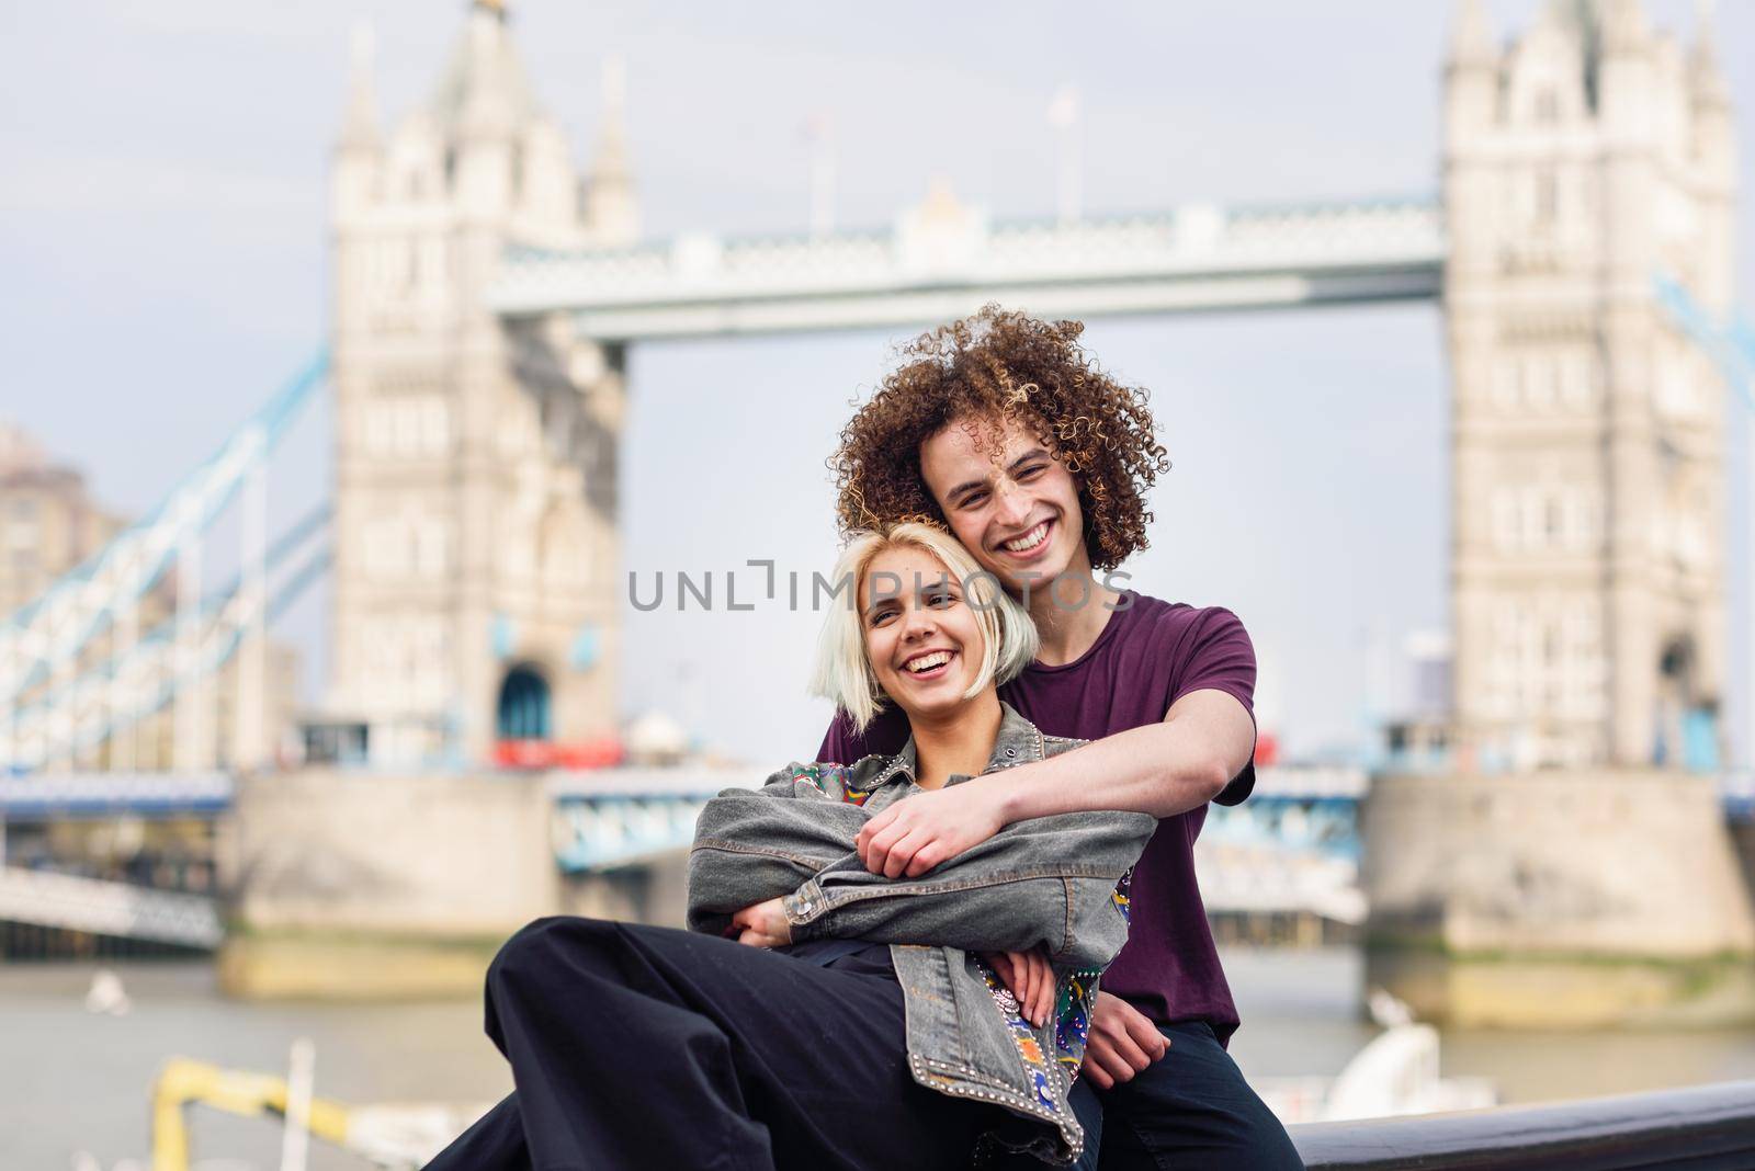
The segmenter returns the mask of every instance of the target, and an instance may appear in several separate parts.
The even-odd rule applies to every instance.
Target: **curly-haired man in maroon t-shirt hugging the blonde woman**
[[[1236,805],[1255,785],[1255,652],[1228,610],[1113,587],[1107,570],[1146,547],[1144,493],[1169,461],[1144,391],[1097,368],[1081,331],[988,307],[916,340],[841,435],[842,529],[948,526],[1041,633],[1000,694],[1042,731],[1093,742],[899,801],[860,833],[860,855],[872,873],[916,876],[1030,817],[1158,817],[1074,1090],[1086,1150],[1104,1169],[1299,1167],[1225,1054],[1237,1010],[1192,852],[1207,801]],[[863,736],[837,719],[818,759],[851,764],[906,738],[895,710]]]

